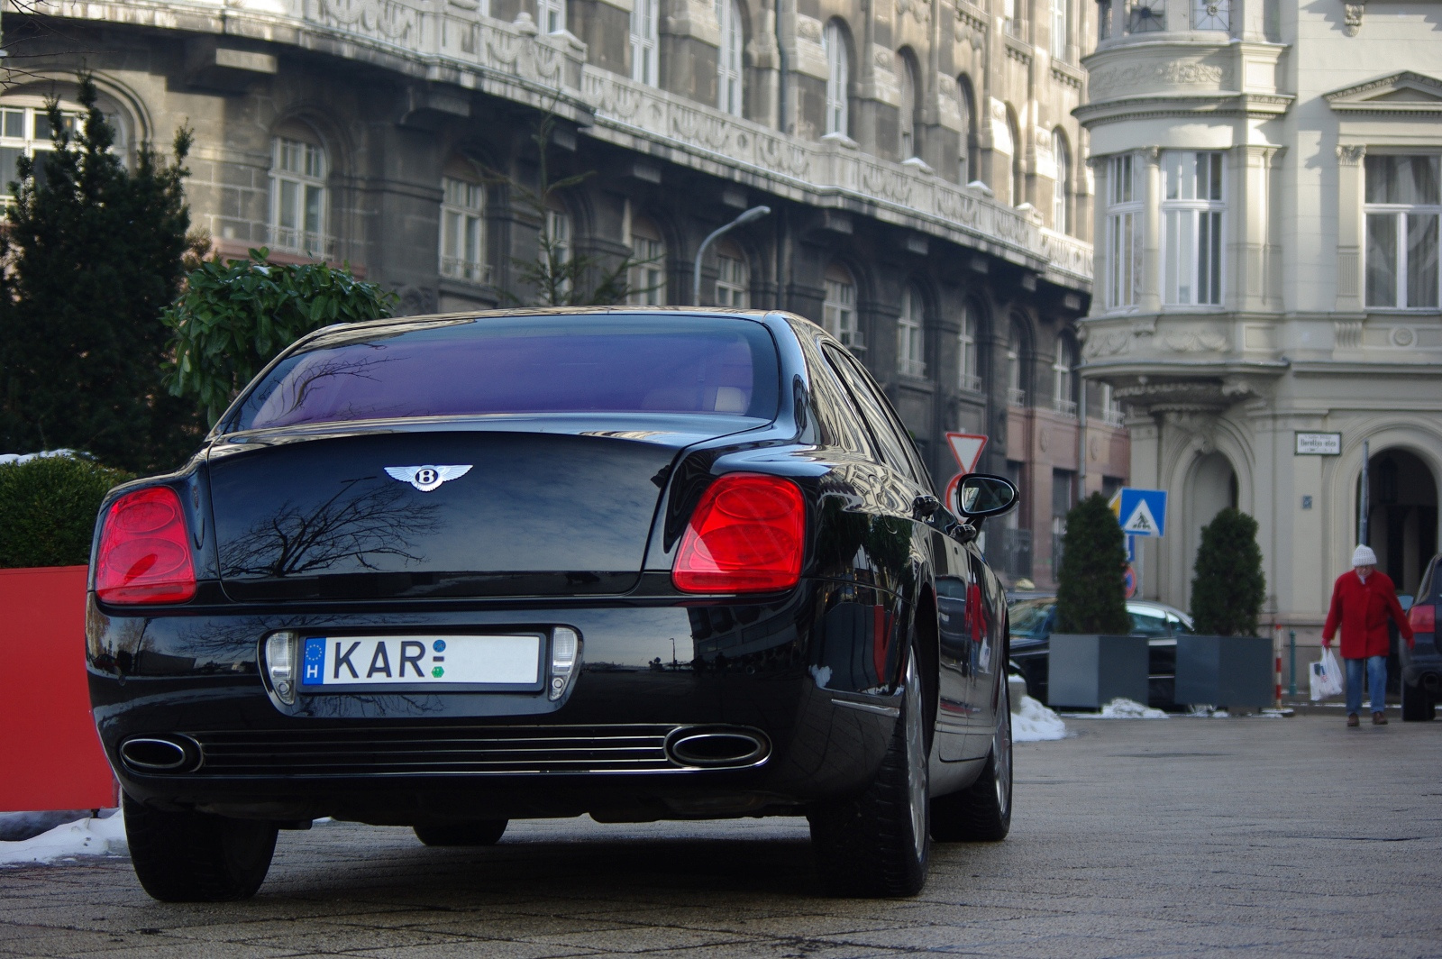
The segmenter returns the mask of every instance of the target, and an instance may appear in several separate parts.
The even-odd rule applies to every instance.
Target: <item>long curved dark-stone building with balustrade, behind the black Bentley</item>
[[[707,251],[702,301],[831,327],[939,485],[943,433],[988,434],[982,467],[1030,493],[991,549],[1047,581],[1053,503],[1128,463],[1118,411],[1074,375],[1089,7],[42,0],[6,16],[0,163],[46,149],[37,108],[85,63],[124,149],[195,130],[189,198],[221,251],[348,261],[410,313],[525,299],[542,226],[571,255],[634,251],[637,299],[688,303],[702,238],[769,205]],[[593,174],[542,224],[513,187],[535,183],[544,111],[554,177]]]

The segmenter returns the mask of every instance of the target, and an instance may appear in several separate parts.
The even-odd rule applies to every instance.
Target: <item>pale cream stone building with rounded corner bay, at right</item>
[[[1438,6],[1099,10],[1083,371],[1129,405],[1132,483],[1171,493],[1144,593],[1185,607],[1201,526],[1237,505],[1269,617],[1315,637],[1360,536],[1364,443],[1381,568],[1415,590],[1438,548]]]

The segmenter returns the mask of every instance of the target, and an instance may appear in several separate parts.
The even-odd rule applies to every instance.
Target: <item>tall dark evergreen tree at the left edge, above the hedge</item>
[[[82,114],[50,101],[53,150],[17,162],[0,235],[0,448],[69,447],[149,472],[173,467],[199,434],[187,404],[166,395],[160,311],[180,288],[190,212],[185,157],[149,146],[134,169],[79,78]]]

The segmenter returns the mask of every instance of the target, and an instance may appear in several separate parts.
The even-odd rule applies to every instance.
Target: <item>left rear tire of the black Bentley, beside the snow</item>
[[[249,898],[275,852],[274,822],[150,809],[124,797],[130,862],[162,903]]]

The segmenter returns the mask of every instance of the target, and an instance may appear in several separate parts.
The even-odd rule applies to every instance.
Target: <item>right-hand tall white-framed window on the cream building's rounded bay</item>
[[[1162,154],[1162,301],[1221,303],[1221,154]]]

